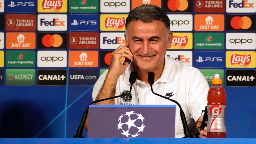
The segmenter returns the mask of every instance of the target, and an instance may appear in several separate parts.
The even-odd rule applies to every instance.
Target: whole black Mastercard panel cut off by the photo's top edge
[[[192,12],[191,0],[164,0],[166,12]]]

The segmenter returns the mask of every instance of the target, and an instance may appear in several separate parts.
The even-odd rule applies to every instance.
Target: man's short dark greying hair
[[[169,17],[160,7],[156,5],[144,4],[133,9],[126,18],[125,29],[128,28],[131,21],[137,20],[144,23],[151,23],[154,20],[162,21],[168,30],[168,33],[170,32]]]

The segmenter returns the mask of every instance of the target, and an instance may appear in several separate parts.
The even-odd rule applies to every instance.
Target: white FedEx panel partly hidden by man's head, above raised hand
[[[116,32],[109,33],[103,32],[100,33],[100,48],[101,49],[116,49],[120,45],[124,45],[126,43],[124,38],[124,33]]]

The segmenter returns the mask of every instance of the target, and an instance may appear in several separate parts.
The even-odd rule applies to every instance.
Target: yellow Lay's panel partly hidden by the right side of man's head
[[[169,49],[192,49],[192,33],[173,33],[172,45]]]

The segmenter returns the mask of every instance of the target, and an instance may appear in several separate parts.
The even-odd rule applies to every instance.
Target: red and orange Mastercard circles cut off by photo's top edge
[[[184,11],[188,8],[187,0],[169,0],[167,6],[172,11]]]

